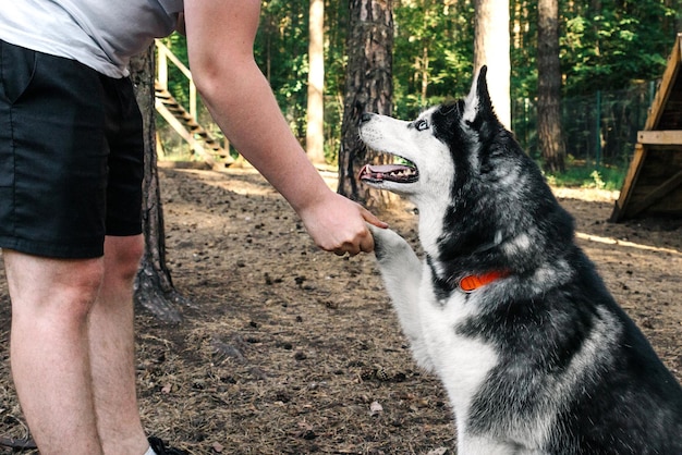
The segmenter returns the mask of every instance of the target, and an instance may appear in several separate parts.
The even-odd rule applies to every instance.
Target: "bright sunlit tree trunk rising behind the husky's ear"
[[[474,70],[488,65],[488,88],[498,119],[511,127],[509,0],[476,0]]]

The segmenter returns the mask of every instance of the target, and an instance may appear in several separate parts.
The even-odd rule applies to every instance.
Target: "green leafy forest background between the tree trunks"
[[[540,160],[536,132],[537,1],[510,0],[511,116],[521,145]],[[560,0],[561,125],[568,170],[553,183],[619,189],[677,33],[682,0]],[[306,138],[308,1],[264,1],[255,54],[292,131]],[[468,91],[474,62],[472,0],[393,1],[393,115]],[[325,157],[336,164],[341,140],[349,0],[325,0]],[[186,62],[184,37],[165,44]],[[180,72],[169,89],[188,98]],[[229,89],[229,87],[226,87]],[[208,113],[200,114],[209,123]],[[163,149],[178,139],[159,120]],[[220,135],[219,131],[215,131]]]

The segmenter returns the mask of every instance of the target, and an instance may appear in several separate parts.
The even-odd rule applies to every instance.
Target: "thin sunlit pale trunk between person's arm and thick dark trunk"
[[[308,108],[305,146],[308,159],[325,163],[325,0],[310,0],[308,22]]]

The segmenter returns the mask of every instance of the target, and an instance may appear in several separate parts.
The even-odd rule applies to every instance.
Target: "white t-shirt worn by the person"
[[[76,60],[110,77],[175,28],[183,0],[3,0],[0,39]]]

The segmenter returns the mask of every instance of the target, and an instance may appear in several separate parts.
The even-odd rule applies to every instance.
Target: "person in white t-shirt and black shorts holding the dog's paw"
[[[42,455],[180,454],[143,429],[132,282],[141,235],[142,123],[131,56],[176,27],[230,142],[314,242],[372,251],[366,223],[293,137],[253,54],[258,0],[22,0],[0,9],[0,247],[11,367]],[[184,26],[183,26],[184,21]]]

